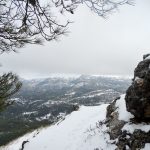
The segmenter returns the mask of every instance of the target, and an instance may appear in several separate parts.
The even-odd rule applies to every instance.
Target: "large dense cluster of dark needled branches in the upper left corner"
[[[0,10],[1,52],[56,39],[69,24],[59,24],[51,15],[50,5],[42,6],[38,0],[0,0]]]

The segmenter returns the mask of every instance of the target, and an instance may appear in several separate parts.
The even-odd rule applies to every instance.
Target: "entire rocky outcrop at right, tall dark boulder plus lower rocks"
[[[119,118],[122,106],[125,111],[120,112],[128,116],[127,120]],[[140,150],[150,143],[150,54],[144,55],[135,68],[125,98],[117,98],[108,105],[105,124],[116,150]]]

